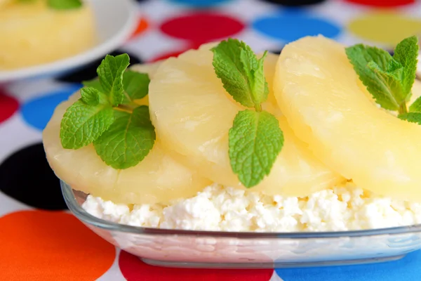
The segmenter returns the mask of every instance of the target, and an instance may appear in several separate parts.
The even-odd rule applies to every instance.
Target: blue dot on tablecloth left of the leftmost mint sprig
[[[51,116],[53,115],[55,107],[63,100],[67,100],[69,96],[75,91],[78,91],[81,85],[77,84],[69,86],[65,89],[46,93],[41,98],[28,100],[22,106],[22,116],[29,125],[34,126],[36,129],[44,130]]]

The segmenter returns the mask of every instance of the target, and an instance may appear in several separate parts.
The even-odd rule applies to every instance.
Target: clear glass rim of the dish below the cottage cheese
[[[375,228],[369,230],[326,231],[326,232],[289,232],[289,233],[258,233],[258,232],[227,232],[208,230],[173,230],[163,228],[145,228],[141,226],[128,226],[97,218],[85,211],[76,201],[74,191],[70,185],[60,180],[61,190],[67,207],[80,221],[104,230],[120,231],[124,233],[149,235],[180,235],[203,237],[236,237],[236,238],[276,238],[276,239],[307,239],[307,238],[335,238],[335,237],[368,237],[375,235],[396,235],[421,232],[421,224],[413,226],[398,226],[394,228]],[[77,192],[77,191],[76,191]]]

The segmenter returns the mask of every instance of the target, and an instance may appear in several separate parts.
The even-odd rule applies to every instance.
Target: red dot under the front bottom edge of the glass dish
[[[149,266],[137,256],[121,251],[119,257],[121,273],[128,281],[269,281],[272,269],[201,269],[163,268]]]

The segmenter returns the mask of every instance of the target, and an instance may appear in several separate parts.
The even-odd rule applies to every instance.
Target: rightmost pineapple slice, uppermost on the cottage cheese
[[[420,85],[413,87],[420,96]],[[377,195],[421,201],[421,126],[381,110],[345,48],[324,37],[288,44],[274,93],[294,133],[321,162]]]

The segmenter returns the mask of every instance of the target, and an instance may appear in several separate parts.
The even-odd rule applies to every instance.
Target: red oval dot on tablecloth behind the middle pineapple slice
[[[224,39],[243,29],[243,23],[229,15],[205,12],[172,18],[161,25],[161,30],[165,34],[193,41],[196,44]]]

